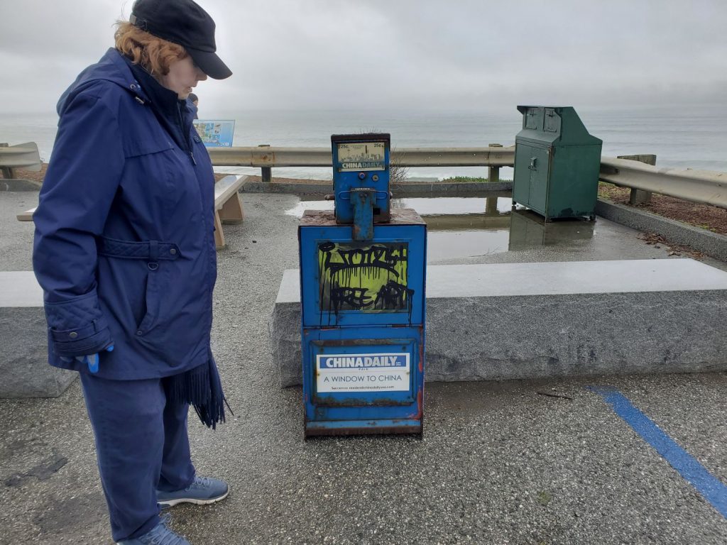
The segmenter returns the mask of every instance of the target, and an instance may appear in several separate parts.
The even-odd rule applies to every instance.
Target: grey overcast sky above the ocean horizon
[[[201,0],[233,70],[209,114],[727,105],[727,1]],[[132,0],[0,0],[0,115],[52,112]]]

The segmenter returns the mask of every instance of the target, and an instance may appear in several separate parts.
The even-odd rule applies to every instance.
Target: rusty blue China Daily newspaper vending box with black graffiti
[[[427,229],[392,209],[389,134],[334,134],[335,209],[300,221],[305,435],[421,433]]]

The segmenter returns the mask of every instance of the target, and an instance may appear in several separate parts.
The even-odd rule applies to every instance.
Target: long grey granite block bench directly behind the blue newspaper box
[[[426,291],[428,381],[727,369],[727,273],[692,259],[435,265]],[[270,337],[300,384],[297,270]]]

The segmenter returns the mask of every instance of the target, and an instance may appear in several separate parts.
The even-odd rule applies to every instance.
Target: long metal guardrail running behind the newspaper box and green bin
[[[252,166],[262,169],[263,182],[270,182],[270,169],[278,166],[332,166],[330,148],[211,148],[215,166]],[[727,208],[727,173],[705,170],[662,169],[631,159],[601,157],[600,179],[637,192],[661,193],[696,203]],[[515,165],[515,146],[491,144],[487,148],[398,148],[392,150],[393,164],[407,166],[488,166],[489,181],[499,181],[502,166]],[[653,162],[653,161],[652,161]],[[632,199],[634,200],[634,199]]]

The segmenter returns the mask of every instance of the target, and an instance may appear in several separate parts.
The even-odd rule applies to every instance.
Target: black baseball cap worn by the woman
[[[185,48],[194,63],[214,79],[232,76],[217,57],[214,21],[192,0],[137,0],[129,23],[157,38]]]

